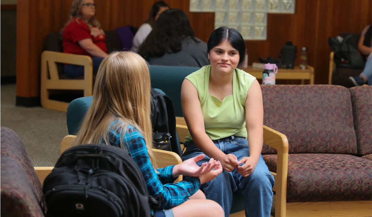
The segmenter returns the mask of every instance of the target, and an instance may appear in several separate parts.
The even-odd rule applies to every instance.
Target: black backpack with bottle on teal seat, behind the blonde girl
[[[173,151],[182,156],[177,143],[176,115],[172,99],[151,87],[151,124],[153,125],[154,147]],[[167,143],[158,143],[166,141]]]

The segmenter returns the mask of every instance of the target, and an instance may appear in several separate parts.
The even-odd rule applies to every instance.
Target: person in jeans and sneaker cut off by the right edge
[[[366,83],[372,85],[372,24],[366,26],[360,34],[358,50],[363,57],[367,56],[366,64],[362,73],[354,77],[350,76],[349,81],[354,86],[362,86]]]

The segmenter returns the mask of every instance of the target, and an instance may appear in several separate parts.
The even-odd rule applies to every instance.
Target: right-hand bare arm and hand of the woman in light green
[[[263,103],[260,84],[254,80],[250,86],[246,107],[246,128],[248,134],[249,157],[243,157],[239,163],[237,171],[242,176],[250,175],[258,163],[263,145]]]

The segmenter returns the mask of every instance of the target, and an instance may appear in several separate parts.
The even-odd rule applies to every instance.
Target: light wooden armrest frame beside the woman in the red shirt
[[[84,79],[60,79],[57,63],[84,66]],[[84,96],[92,96],[92,58],[86,55],[43,51],[41,54],[41,105],[44,108],[67,111],[69,103],[49,99],[49,90],[83,90]]]

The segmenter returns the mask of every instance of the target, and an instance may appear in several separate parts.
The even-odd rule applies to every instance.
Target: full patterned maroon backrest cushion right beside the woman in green
[[[261,89],[263,124],[287,136],[289,153],[356,154],[352,105],[346,87],[261,85]],[[264,145],[262,153],[276,151]]]

